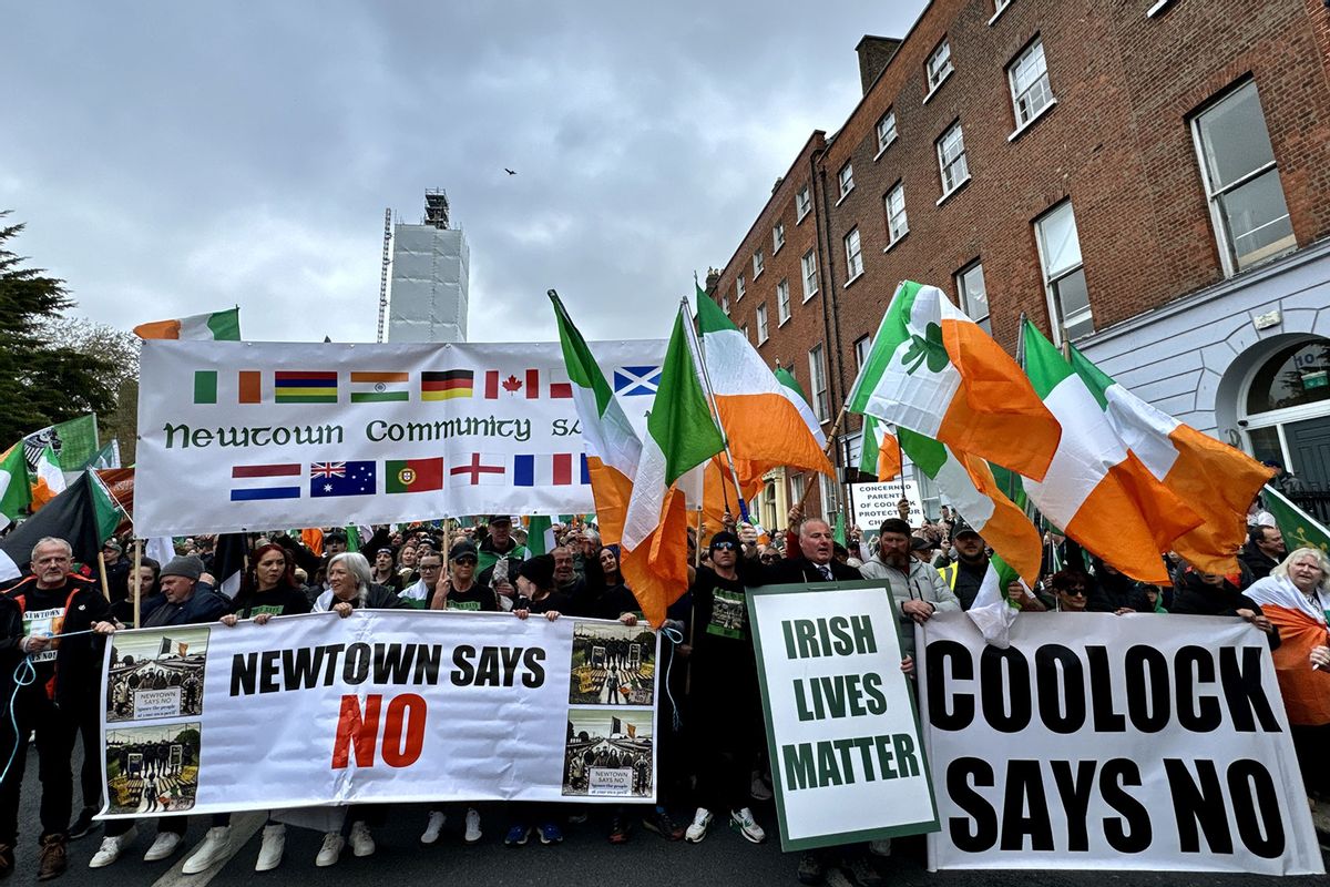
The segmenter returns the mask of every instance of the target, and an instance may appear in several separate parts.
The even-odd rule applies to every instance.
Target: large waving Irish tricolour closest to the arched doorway
[[[1274,469],[1156,410],[1075,346],[1071,364],[1119,439],[1156,480],[1201,516],[1204,523],[1177,537],[1173,551],[1206,573],[1238,572],[1236,555],[1246,541],[1248,505]]]

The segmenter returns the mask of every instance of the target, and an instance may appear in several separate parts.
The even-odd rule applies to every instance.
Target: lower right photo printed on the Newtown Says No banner
[[[649,798],[650,711],[569,709],[564,795]]]

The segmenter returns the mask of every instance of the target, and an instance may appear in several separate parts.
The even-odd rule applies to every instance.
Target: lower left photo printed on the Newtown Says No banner
[[[106,813],[192,810],[198,795],[200,727],[194,721],[106,730]]]

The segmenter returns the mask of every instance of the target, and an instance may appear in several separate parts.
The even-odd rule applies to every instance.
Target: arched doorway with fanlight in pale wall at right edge
[[[1330,339],[1299,336],[1258,364],[1238,426],[1253,456],[1283,465],[1303,489],[1330,491]]]

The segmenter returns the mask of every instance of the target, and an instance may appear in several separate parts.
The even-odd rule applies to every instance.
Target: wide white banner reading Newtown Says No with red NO
[[[112,818],[352,802],[656,798],[645,626],[356,610],[117,633]]]

